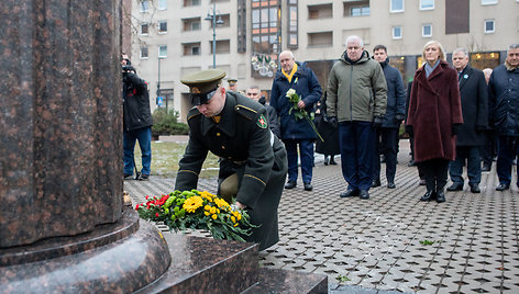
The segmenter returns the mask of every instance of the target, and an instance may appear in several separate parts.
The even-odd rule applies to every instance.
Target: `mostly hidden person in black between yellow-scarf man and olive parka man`
[[[319,105],[319,117],[316,115],[317,131],[324,142],[317,140],[316,152],[324,155],[324,166],[328,166],[328,163],[336,165],[333,157],[341,154],[339,148],[339,128],[336,125],[328,122],[325,91]]]

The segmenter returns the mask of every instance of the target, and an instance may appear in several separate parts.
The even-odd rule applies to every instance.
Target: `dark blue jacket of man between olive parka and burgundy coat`
[[[401,80],[400,71],[389,65],[389,59],[380,64],[387,84],[386,114],[382,123],[383,127],[398,128],[401,121],[396,120],[397,114],[406,115],[406,89]]]

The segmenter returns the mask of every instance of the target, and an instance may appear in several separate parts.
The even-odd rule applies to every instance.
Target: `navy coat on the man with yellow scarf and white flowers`
[[[286,97],[289,89],[296,90],[296,93],[305,102],[305,110],[310,115],[316,111],[316,103],[322,95],[316,74],[305,64],[297,63],[297,71],[291,81],[288,82],[285,75],[278,70],[270,91],[270,106],[279,115],[281,139],[316,139],[317,135],[307,120],[296,120],[294,113],[288,113],[292,106]]]

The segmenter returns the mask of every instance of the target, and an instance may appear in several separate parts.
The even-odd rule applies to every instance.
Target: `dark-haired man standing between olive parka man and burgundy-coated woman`
[[[372,186],[380,185],[380,160],[378,155],[380,150],[383,150],[383,155],[386,159],[387,188],[395,189],[397,139],[400,124],[406,117],[406,90],[404,89],[400,71],[389,65],[386,46],[376,45],[373,49],[373,59],[380,64],[384,77],[386,77],[387,104],[382,126],[376,128],[374,155],[375,171]]]

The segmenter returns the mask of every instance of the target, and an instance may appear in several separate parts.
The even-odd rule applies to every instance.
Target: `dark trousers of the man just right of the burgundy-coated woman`
[[[456,147],[456,159],[451,161],[449,173],[453,183],[463,184],[463,166],[466,159],[466,173],[468,184],[479,184],[482,181],[482,160],[479,157],[479,146],[459,146]]]

